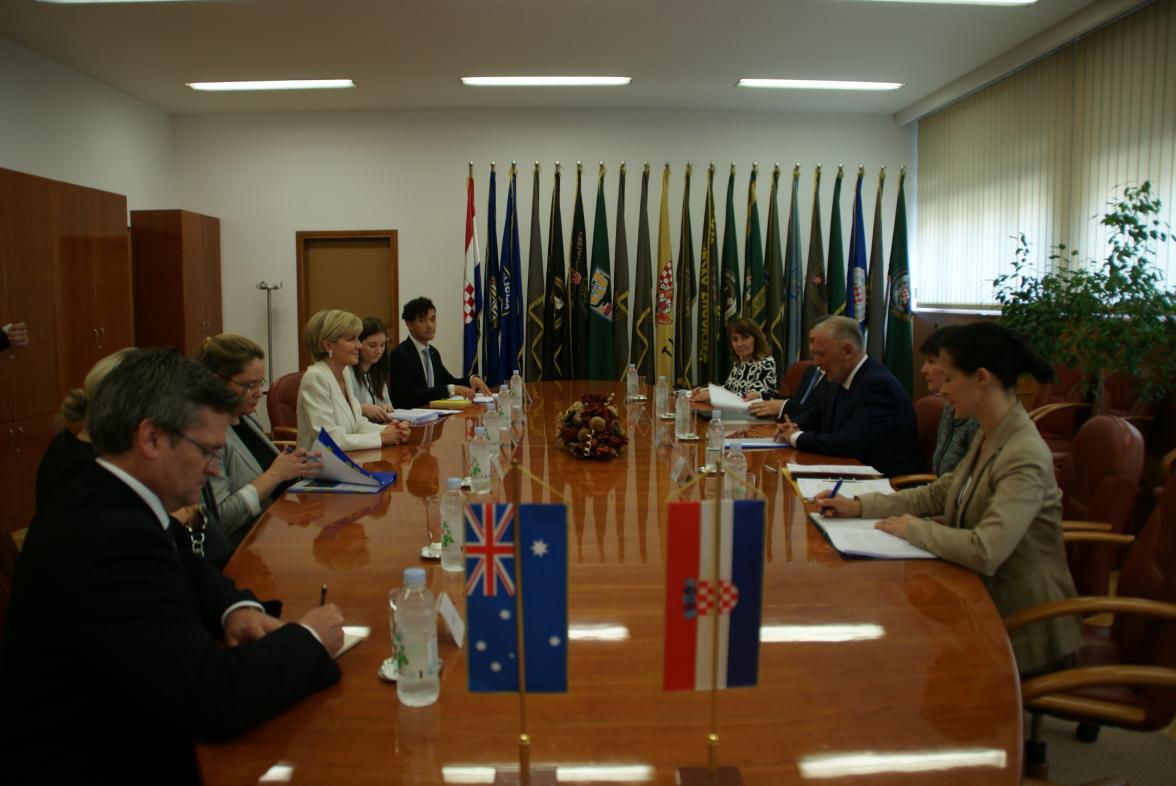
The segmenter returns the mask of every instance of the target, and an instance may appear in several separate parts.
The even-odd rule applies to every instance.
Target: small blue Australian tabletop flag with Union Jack
[[[466,617],[469,690],[519,690],[513,505],[466,506]],[[520,505],[522,622],[527,691],[568,690],[568,512]]]

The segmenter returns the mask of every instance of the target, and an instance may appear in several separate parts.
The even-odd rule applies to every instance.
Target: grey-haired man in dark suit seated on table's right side
[[[830,389],[821,406],[786,415],[777,439],[809,453],[857,459],[884,475],[920,472],[923,466],[915,408],[886,366],[866,355],[857,322],[831,317],[813,328],[813,361]]]

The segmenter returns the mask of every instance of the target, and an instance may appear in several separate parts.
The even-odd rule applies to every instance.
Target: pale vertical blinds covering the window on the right
[[[1024,234],[1103,259],[1098,224],[1124,186],[1151,180],[1174,222],[1176,1],[1161,0],[918,121],[920,306],[990,306]],[[1176,286],[1176,251],[1156,261]]]

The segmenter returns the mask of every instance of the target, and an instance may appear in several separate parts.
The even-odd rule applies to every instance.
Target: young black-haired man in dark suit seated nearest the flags
[[[430,346],[437,332],[437,311],[428,298],[414,298],[400,313],[408,338],[392,351],[388,368],[388,398],[400,408],[423,407],[429,401],[474,393],[489,394],[490,388],[477,375],[454,377],[441,362],[441,353]]]

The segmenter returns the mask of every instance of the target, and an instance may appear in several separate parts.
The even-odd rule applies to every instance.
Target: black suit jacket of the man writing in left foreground
[[[255,599],[86,467],[38,512],[16,565],[0,642],[5,782],[198,784],[194,739],[238,734],[339,679],[301,625],[222,650],[221,614],[241,600]]]

